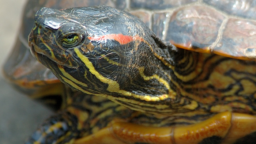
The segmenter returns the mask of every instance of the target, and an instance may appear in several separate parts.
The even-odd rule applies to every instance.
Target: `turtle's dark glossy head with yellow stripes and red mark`
[[[87,94],[132,105],[175,96],[164,72],[170,63],[165,52],[174,47],[128,12],[107,6],[41,8],[29,43],[38,61]]]

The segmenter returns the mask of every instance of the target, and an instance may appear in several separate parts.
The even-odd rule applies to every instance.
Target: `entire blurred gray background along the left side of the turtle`
[[[0,144],[22,144],[49,115],[46,107],[15,91],[4,79],[2,67],[10,54],[27,0],[0,4]]]

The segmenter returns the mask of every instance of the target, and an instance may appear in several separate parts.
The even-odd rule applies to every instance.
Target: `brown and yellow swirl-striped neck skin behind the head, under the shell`
[[[164,107],[168,103],[169,107],[161,107],[159,114],[165,111],[171,115],[210,115],[223,111],[256,114],[255,61],[184,49],[169,50],[165,56],[173,62],[165,63],[159,58],[169,69],[160,67],[158,75],[166,77],[170,90],[168,98],[158,104],[163,103]]]

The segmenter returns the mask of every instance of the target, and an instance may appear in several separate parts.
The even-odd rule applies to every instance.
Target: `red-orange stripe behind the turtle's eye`
[[[123,35],[123,34],[106,34],[102,35],[100,37],[88,37],[91,41],[105,41],[107,39],[114,39],[115,41],[118,41],[121,45],[129,43],[131,41],[144,41],[143,38],[136,36],[129,36],[129,35]]]

